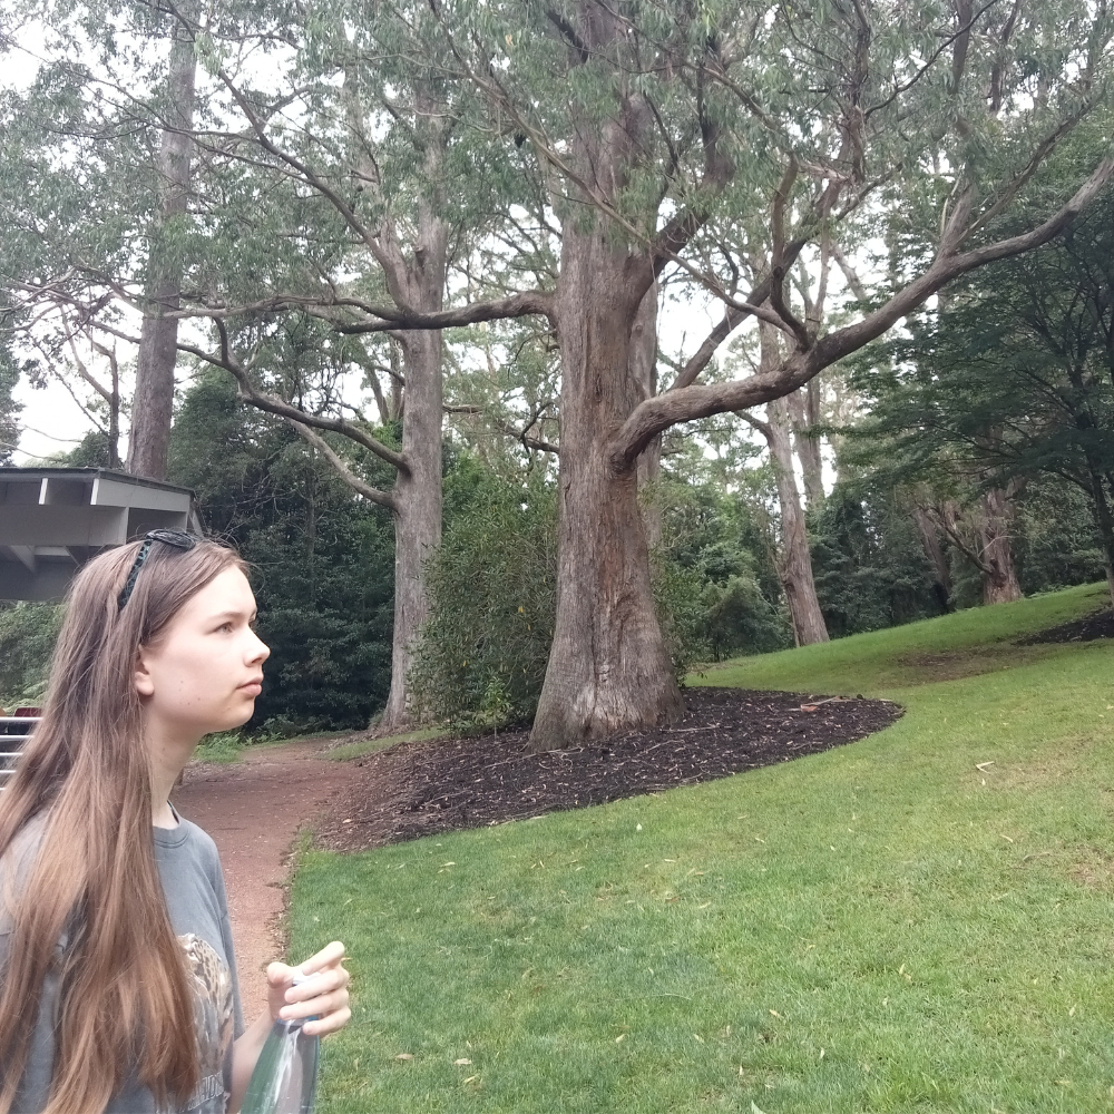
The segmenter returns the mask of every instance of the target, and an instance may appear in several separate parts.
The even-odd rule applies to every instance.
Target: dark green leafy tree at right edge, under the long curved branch
[[[1107,192],[1063,236],[977,272],[937,310],[912,317],[906,334],[857,361],[871,412],[854,431],[854,456],[879,473],[962,502],[1012,480],[1061,492],[1034,496],[1043,509],[1022,524],[1035,545],[1029,583],[1052,587],[1093,574],[1084,505],[1114,564],[1112,261]],[[1063,531],[1049,529],[1055,522]],[[1048,554],[1057,535],[1068,558],[1059,573]]]

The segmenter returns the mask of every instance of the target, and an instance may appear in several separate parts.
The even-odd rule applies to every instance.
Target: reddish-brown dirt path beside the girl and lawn
[[[294,837],[362,775],[351,763],[321,756],[344,741],[261,746],[231,765],[197,763],[174,794],[175,808],[221,851],[248,1023],[266,1005],[260,973],[281,957],[278,917]]]

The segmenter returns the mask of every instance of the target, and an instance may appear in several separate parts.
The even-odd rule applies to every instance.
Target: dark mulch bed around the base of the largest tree
[[[863,739],[902,714],[889,701],[690,688],[672,727],[546,754],[527,732],[398,743],[354,760],[362,775],[317,827],[359,851],[726,778]]]

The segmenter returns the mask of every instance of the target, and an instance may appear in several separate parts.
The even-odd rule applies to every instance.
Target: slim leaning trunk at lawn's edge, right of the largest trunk
[[[763,325],[763,329],[770,328]],[[778,477],[778,501],[781,506],[781,545],[778,573],[781,576],[789,612],[793,620],[793,641],[798,646],[811,646],[828,642],[828,625],[824,623],[817,586],[812,578],[812,556],[809,553],[809,537],[804,526],[804,510],[793,476],[793,449],[790,443],[789,404],[779,399],[766,405],[766,440]]]

